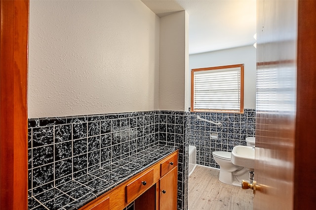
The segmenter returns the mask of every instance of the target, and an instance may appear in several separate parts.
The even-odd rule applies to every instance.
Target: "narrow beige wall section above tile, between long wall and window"
[[[189,71],[188,14],[160,18],[159,109],[185,110],[185,73]]]

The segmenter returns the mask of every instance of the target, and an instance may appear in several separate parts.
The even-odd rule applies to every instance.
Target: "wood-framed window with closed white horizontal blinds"
[[[191,111],[243,113],[243,64],[192,69]]]

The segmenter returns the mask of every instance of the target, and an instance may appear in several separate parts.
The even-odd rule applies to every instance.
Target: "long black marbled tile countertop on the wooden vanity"
[[[29,210],[77,210],[177,150],[156,145],[29,197]]]

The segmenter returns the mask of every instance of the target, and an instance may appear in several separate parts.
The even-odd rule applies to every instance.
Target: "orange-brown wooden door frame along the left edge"
[[[0,209],[28,209],[29,0],[1,0]]]

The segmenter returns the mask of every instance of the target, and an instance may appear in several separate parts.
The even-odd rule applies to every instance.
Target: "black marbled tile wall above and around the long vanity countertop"
[[[189,116],[146,111],[29,119],[29,196],[136,151],[166,144],[179,148],[178,210],[187,210]]]

